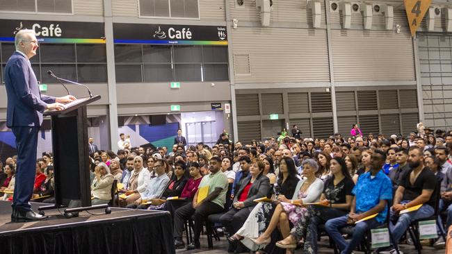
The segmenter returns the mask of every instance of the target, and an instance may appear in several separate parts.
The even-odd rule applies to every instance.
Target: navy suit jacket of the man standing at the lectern
[[[41,95],[30,61],[16,51],[4,75],[8,95],[6,126],[41,126],[42,112],[47,103],[55,103],[55,97]]]

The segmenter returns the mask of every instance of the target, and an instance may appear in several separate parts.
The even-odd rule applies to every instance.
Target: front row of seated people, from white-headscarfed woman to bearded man
[[[395,243],[401,239],[411,221],[433,215],[433,192],[438,191],[435,173],[424,167],[421,149],[412,147],[407,158],[410,169],[398,183],[392,206],[390,225]],[[123,191],[128,198],[122,202],[129,208],[169,210],[174,218],[173,230],[177,248],[185,245],[181,238],[184,223],[193,217],[194,241],[188,244],[187,248],[200,248],[199,237],[204,220],[209,214],[223,212],[226,198],[229,198],[226,197],[228,178],[220,170],[221,161],[217,156],[213,156],[209,160],[209,174],[203,178],[200,176],[199,167],[195,167],[195,162],[189,164],[192,184],[183,185],[183,182],[190,183],[186,177],[184,162],[175,163],[175,177],[169,180],[164,169],[161,169],[165,161],[156,160],[153,169],[158,176],[151,178],[145,185],[144,179],[140,182],[141,171],[132,173],[136,179],[129,178],[126,182],[128,186]],[[271,195],[270,180],[263,173],[265,165],[261,160],[251,161],[247,156],[243,156],[239,159],[241,171],[248,171],[248,175],[241,178],[240,183],[235,186],[233,205],[220,219],[230,234],[229,251],[264,249],[267,253],[272,253],[268,250],[275,248],[275,245],[294,248],[300,239],[303,239],[305,251],[316,253],[316,228],[324,223],[326,231],[342,253],[351,253],[360,243],[362,232],[385,223],[387,203],[393,199],[392,181],[381,170],[385,161],[384,152],[373,151],[369,171],[362,173],[355,185],[343,158],[330,160],[331,177],[323,181],[316,173],[316,160],[302,161],[303,178],[300,180],[293,159],[284,157],[280,161],[277,183],[273,187],[277,202],[256,203],[256,198]],[[131,165],[132,162],[128,160],[127,163]],[[143,160],[137,156],[133,163],[135,169],[140,169]],[[145,189],[143,185],[146,186]],[[205,186],[209,186],[207,197],[198,202],[199,189]],[[187,188],[190,194],[186,192],[183,196],[182,192],[187,191]],[[169,196],[183,196],[186,200],[151,202],[152,205],[146,202],[161,201]],[[419,204],[423,204],[419,210],[398,216],[401,210]],[[351,241],[346,242],[339,229],[371,214],[378,216],[357,223]],[[271,235],[277,228],[286,239],[276,244],[273,241],[271,244]],[[393,251],[391,248],[387,252]]]

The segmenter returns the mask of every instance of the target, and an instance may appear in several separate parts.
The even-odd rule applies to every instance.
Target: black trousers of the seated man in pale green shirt
[[[195,225],[193,226],[193,239],[195,241],[200,240],[202,223],[207,219],[209,214],[217,214],[223,212],[223,208],[213,202],[203,202],[200,206],[193,209],[193,202],[187,203],[181,208],[175,211],[175,221],[173,234],[175,238],[182,237],[182,231],[184,231],[184,223],[187,219],[191,219],[193,215],[195,219]]]

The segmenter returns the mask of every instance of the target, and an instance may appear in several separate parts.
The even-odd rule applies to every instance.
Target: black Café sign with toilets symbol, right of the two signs
[[[114,23],[113,38],[130,44],[227,45],[226,26]]]

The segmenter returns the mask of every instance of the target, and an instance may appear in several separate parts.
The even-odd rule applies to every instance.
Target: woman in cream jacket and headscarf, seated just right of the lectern
[[[111,185],[113,185],[113,175],[104,162],[97,164],[94,169],[95,178],[91,184],[91,205],[108,204],[111,201]]]

